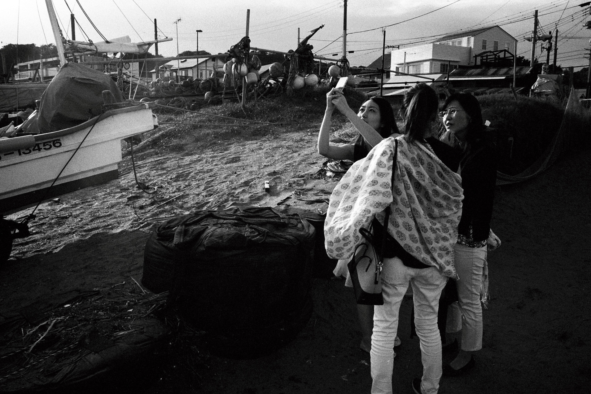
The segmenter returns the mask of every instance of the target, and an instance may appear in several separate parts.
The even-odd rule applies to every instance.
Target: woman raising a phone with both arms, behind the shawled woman
[[[359,131],[359,135],[351,144],[331,145],[329,142],[330,119],[335,109],[345,115]],[[358,113],[355,113],[350,109],[342,89],[331,89],[326,94],[326,111],[320,126],[317,145],[318,153],[324,157],[355,162],[365,158],[374,145],[382,139],[398,135],[394,111],[386,99],[372,97],[361,105]],[[352,287],[347,268],[348,262],[345,259],[339,260],[333,273],[337,277],[345,276],[345,286]],[[369,353],[374,330],[374,305],[357,305],[357,314],[362,336],[359,349]],[[396,339],[395,346],[400,346],[400,338]]]

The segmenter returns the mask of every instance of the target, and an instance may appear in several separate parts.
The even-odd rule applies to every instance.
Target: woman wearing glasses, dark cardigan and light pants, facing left
[[[481,302],[486,305],[488,298],[486,240],[490,232],[497,158],[495,144],[489,141],[482,124],[476,97],[466,93],[447,97],[440,118],[446,128],[441,141],[462,150],[458,173],[462,177],[464,200],[454,245],[459,301],[448,317],[447,328],[448,332],[461,330],[461,345],[457,357],[443,369],[444,376],[457,376],[475,366],[472,354],[482,349]],[[449,327],[451,322],[456,322],[456,327]]]

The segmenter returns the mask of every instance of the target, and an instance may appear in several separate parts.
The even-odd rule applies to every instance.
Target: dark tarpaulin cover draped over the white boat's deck
[[[39,132],[67,129],[99,115],[103,90],[111,90],[115,102],[123,95],[106,74],[79,63],[66,63],[41,96]]]

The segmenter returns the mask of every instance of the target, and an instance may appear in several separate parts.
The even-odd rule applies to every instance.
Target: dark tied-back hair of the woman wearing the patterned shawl
[[[408,141],[424,141],[423,135],[430,128],[430,122],[439,108],[437,93],[426,83],[417,83],[404,93],[402,108],[406,121],[404,133]]]

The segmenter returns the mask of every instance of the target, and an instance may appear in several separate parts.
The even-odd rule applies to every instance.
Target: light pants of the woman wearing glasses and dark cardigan
[[[486,246],[470,248],[456,243],[453,248],[456,265],[458,302],[447,310],[446,331],[462,330],[462,350],[482,349],[482,304],[480,291],[486,262]]]

